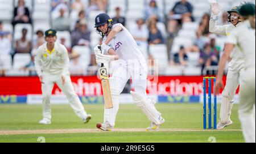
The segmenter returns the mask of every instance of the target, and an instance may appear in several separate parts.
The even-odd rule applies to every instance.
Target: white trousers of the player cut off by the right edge
[[[255,143],[255,66],[246,69],[241,77],[238,115],[245,142]]]

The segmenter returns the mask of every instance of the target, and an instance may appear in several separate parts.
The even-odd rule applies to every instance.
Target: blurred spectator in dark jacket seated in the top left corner
[[[18,6],[14,8],[13,27],[18,23],[31,23],[30,11],[25,6],[24,0],[19,0]]]

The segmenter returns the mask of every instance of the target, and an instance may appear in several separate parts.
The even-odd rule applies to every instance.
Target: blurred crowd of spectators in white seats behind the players
[[[218,24],[228,24],[226,11],[239,3],[221,1]],[[209,32],[205,0],[0,0],[0,8],[0,76],[36,75],[36,49],[48,28],[68,49],[72,75],[96,75],[92,49],[101,41],[94,28],[100,12],[129,29],[148,66],[158,61],[160,75],[215,74],[225,42]]]

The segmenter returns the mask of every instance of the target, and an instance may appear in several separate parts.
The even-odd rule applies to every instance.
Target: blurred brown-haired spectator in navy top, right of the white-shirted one
[[[154,20],[154,19],[149,20],[148,29],[149,29],[149,35],[148,35],[148,44],[149,45],[164,43],[162,33],[156,27],[156,20]]]

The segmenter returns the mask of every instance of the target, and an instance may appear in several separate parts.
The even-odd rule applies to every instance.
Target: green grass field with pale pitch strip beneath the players
[[[137,106],[120,105],[115,131],[96,128],[102,122],[103,105],[85,104],[92,120],[83,124],[69,105],[52,105],[52,124],[40,125],[40,105],[0,105],[0,142],[244,142],[238,105],[232,112],[233,125],[224,130],[203,130],[202,104],[156,104],[166,122],[158,132],[146,132],[150,122]],[[220,106],[218,106],[218,113]]]

